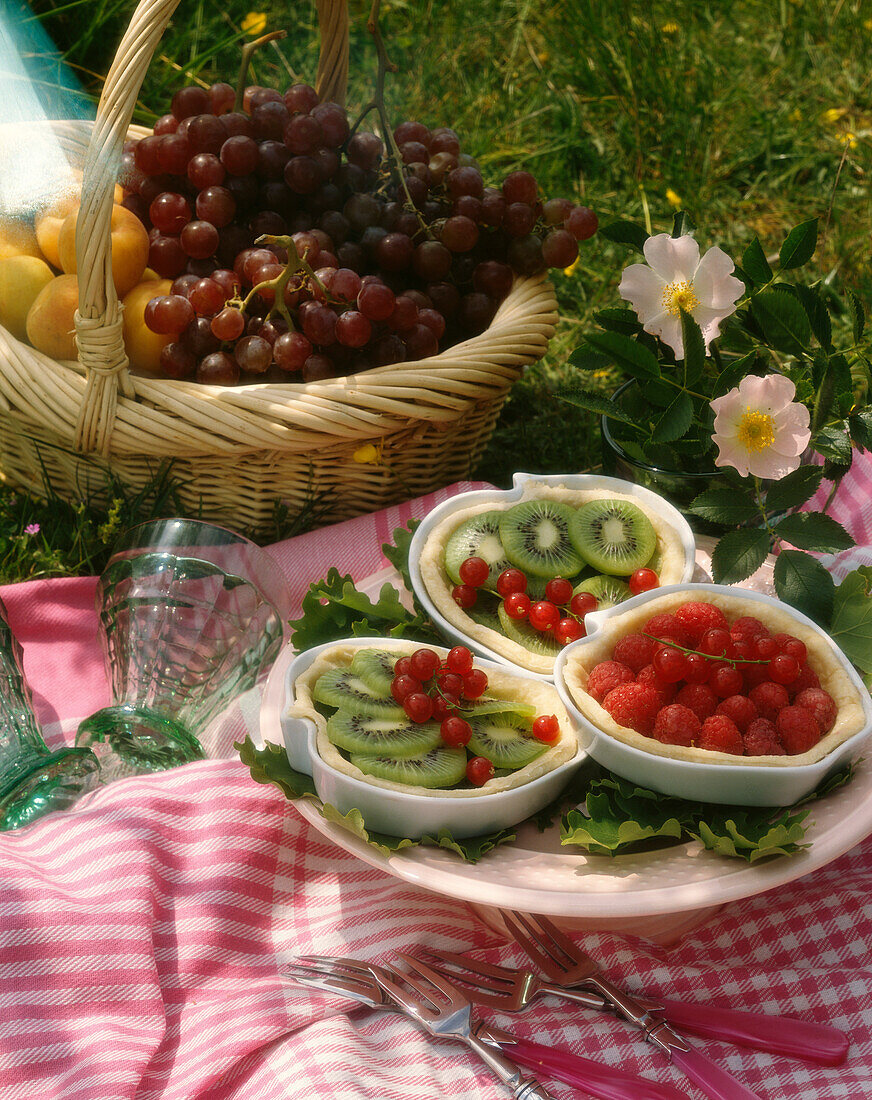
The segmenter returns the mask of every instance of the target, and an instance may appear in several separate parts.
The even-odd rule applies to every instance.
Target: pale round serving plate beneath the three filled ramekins
[[[699,539],[697,565],[707,572],[713,540]],[[770,560],[743,587],[772,590]],[[389,569],[361,582],[373,595],[382,584],[401,587]],[[263,740],[282,744],[280,698],[295,654],[279,657],[267,682],[261,711]],[[872,834],[872,768],[812,807],[806,840],[796,856],[762,864],[725,859],[697,842],[672,848],[608,858],[562,847],[555,824],[543,833],[525,824],[511,844],[501,845],[475,865],[440,848],[406,848],[383,856],[347,829],[325,821],[318,803],[294,801],[295,809],[322,836],[371,867],[473,905],[488,923],[495,908],[555,917],[564,927],[604,927],[650,938],[674,938],[718,906],[792,882],[831,862]]]

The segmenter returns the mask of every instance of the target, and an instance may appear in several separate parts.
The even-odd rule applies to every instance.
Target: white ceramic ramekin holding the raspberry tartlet
[[[738,598],[747,604],[747,609],[742,614],[760,617],[763,622],[765,622],[765,614],[762,607],[776,607],[796,624],[802,624],[803,627],[813,630],[857,689],[865,717],[862,729],[836,746],[821,760],[802,766],[791,765],[791,757],[776,758],[779,761],[784,760],[783,765],[779,762],[776,766],[726,763],[718,762],[714,758],[711,762],[676,760],[627,745],[600,729],[582,713],[566,685],[567,662],[583,654],[584,648],[596,641],[600,632],[612,624],[618,630],[615,636],[615,640],[617,640],[621,636],[620,622],[622,617],[637,607],[651,604],[660,597],[675,592],[686,592],[688,600],[700,601],[705,601],[713,594],[729,595],[731,598]],[[787,604],[761,592],[719,584],[669,585],[633,596],[607,610],[594,612],[586,617],[585,626],[587,627],[587,636],[572,642],[558,656],[554,666],[556,689],[564,706],[578,726],[582,743],[588,754],[598,763],[609,768],[618,776],[623,776],[626,779],[639,783],[640,787],[696,802],[748,806],[787,806],[810,794],[829,774],[852,760],[858,755],[862,743],[872,734],[872,700],[870,700],[862,680],[845,653],[829,635],[812,619]],[[652,741],[652,745],[655,746],[658,743]]]

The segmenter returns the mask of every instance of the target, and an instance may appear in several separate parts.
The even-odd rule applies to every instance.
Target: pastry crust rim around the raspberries
[[[640,630],[653,615],[673,612],[693,598],[692,591],[673,592],[652,600],[642,607],[636,607],[620,616],[615,616],[589,642],[580,646],[569,657],[563,670],[564,682],[575,705],[597,729],[625,745],[650,752],[652,756],[669,757],[673,760],[689,760],[696,763],[737,763],[763,768],[797,768],[803,765],[816,763],[842,741],[847,741],[849,737],[860,733],[865,725],[862,697],[836,656],[835,645],[828,638],[804,623],[799,623],[786,609],[759,601],[743,600],[741,596],[714,592],[700,592],[696,598],[720,607],[729,620],[737,619],[742,615],[753,615],[765,623],[773,634],[792,634],[805,642],[809,666],[818,674],[820,686],[824,691],[829,692],[838,707],[832,729],[807,752],[796,756],[746,757],[735,756],[731,752],[699,749],[694,746],[663,745],[653,737],[645,737],[634,729],[618,725],[611,715],[585,690],[590,669],[599,661],[610,658],[618,639]]]

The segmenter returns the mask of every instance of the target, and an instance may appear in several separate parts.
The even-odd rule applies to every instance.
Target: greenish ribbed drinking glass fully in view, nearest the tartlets
[[[290,606],[280,570],[254,542],[164,519],[122,538],[97,610],[112,703],[79,725],[76,744],[104,744],[103,772],[120,778],[205,756],[202,732],[280,652]]]

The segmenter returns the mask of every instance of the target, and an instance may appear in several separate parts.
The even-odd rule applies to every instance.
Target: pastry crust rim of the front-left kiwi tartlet
[[[556,715],[558,722],[560,723],[560,736],[558,740],[550,746],[547,752],[537,757],[536,760],[528,763],[525,768],[519,768],[509,776],[495,777],[485,783],[484,787],[476,788],[474,790],[442,791],[432,788],[411,787],[408,783],[395,783],[391,780],[376,779],[374,776],[365,776],[358,768],[355,768],[350,760],[346,760],[339,749],[336,749],[336,747],[328,739],[327,722],[323,716],[319,714],[312,698],[312,691],[314,690],[316,681],[329,669],[347,668],[354,657],[354,653],[358,649],[390,650],[391,652],[396,651],[397,657],[402,657],[404,654],[413,653],[416,649],[420,648],[420,642],[400,641],[396,639],[385,639],[384,641],[379,640],[377,644],[373,641],[336,642],[335,646],[332,646],[330,649],[325,649],[322,653],[320,653],[309,668],[297,676],[294,684],[294,703],[290,705],[287,713],[291,717],[309,718],[316,724],[318,727],[318,736],[316,740],[318,755],[324,763],[345,776],[351,776],[353,779],[357,779],[363,783],[368,783],[371,787],[380,787],[386,791],[397,791],[402,794],[423,794],[429,798],[441,799],[477,799],[483,795],[499,794],[503,791],[509,791],[516,787],[521,787],[523,783],[529,783],[534,779],[539,779],[540,776],[544,776],[547,772],[553,771],[561,765],[567,763],[581,751],[578,738],[575,734],[575,727],[566,712],[566,708],[563,706],[555,688],[551,684],[543,683],[542,681],[528,680],[514,675],[510,672],[488,669],[486,693],[488,697],[505,698],[508,701],[521,700],[525,703],[532,703],[539,714]],[[444,657],[448,652],[448,650],[440,649],[438,646],[428,648],[433,649],[442,657]]]

